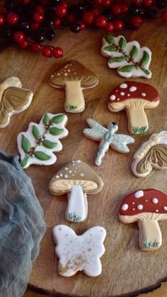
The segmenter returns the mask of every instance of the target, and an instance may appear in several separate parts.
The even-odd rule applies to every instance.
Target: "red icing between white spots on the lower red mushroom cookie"
[[[140,198],[136,198],[134,194],[137,193],[138,191],[143,191],[144,196]],[[153,203],[152,201],[153,198],[157,198],[159,202]],[[128,208],[126,211],[122,210],[122,206],[124,204],[128,205]],[[142,210],[137,209],[137,206],[139,204],[143,206]],[[166,210],[163,209],[164,206],[166,206]],[[134,211],[133,211],[133,208],[134,208]],[[156,189],[137,190],[124,198],[120,206],[119,212],[120,212],[120,215],[137,215],[138,213],[159,213],[159,214],[166,213],[167,214],[167,195]]]

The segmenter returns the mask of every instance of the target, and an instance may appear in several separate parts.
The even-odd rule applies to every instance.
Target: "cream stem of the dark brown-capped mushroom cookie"
[[[66,82],[65,111],[76,113],[84,111],[85,101],[81,89],[81,81]]]

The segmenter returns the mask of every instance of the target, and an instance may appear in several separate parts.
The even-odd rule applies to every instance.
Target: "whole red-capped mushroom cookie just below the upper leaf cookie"
[[[108,109],[114,113],[125,109],[131,134],[142,134],[149,129],[144,109],[159,105],[159,92],[142,82],[124,82],[110,94]]]

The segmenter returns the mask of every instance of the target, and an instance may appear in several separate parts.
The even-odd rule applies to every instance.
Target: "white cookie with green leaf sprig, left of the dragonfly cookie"
[[[18,151],[21,166],[25,169],[30,164],[51,165],[57,160],[53,152],[62,150],[59,139],[68,135],[65,128],[67,116],[63,113],[45,113],[39,124],[30,123],[26,132],[18,134]]]

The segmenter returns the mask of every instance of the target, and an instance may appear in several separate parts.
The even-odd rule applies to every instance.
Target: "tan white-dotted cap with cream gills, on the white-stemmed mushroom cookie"
[[[50,181],[50,192],[54,195],[69,193],[72,186],[81,186],[86,194],[96,194],[103,189],[103,181],[91,167],[81,160],[66,164]]]

